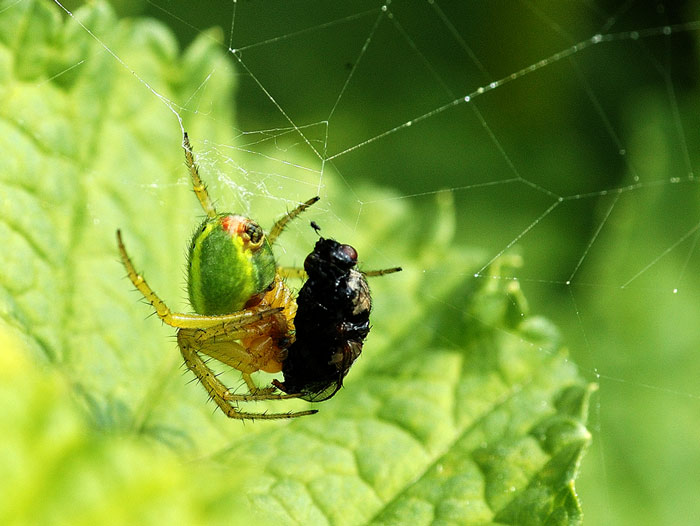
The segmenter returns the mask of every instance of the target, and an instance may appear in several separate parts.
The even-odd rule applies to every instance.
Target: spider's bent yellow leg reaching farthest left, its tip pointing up
[[[126,272],[131,280],[131,283],[133,283],[134,287],[136,287],[143,297],[146,298],[146,301],[153,306],[158,317],[171,327],[182,329],[207,329],[210,327],[224,325],[226,323],[232,325],[249,325],[282,310],[282,308],[256,309],[254,307],[252,309],[236,312],[234,314],[223,314],[219,316],[204,316],[201,314],[182,314],[172,312],[165,302],[161,300],[155,292],[153,292],[153,289],[151,289],[148,283],[146,283],[143,276],[136,272],[134,265],[131,263],[129,255],[126,253],[126,247],[124,246],[122,235],[119,230],[117,230],[117,244],[119,246],[119,254],[121,255],[122,263],[126,268]]]

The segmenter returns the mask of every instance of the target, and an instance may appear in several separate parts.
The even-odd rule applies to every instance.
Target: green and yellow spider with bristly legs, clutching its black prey
[[[177,343],[185,364],[226,416],[280,419],[314,414],[316,410],[249,413],[241,411],[238,402],[302,396],[276,392],[273,386],[259,388],[251,374],[281,371],[286,347],[293,342],[296,302],[284,278],[305,274],[301,269],[277,267],[272,245],[287,223],[319,198],[313,197],[282,216],[265,235],[247,217],[216,211],[199,176],[186,133],[183,148],[194,193],[207,215],[192,237],[188,255],[187,289],[196,314],[175,313],[168,308],[134,268],[117,230],[117,244],[127,275],[158,317],[177,328]],[[239,370],[249,392],[232,393],[200,353]]]

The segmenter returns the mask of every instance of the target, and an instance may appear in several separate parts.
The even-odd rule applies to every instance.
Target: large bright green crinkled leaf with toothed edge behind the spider
[[[257,158],[250,180],[231,167],[244,162],[219,147],[235,142],[234,69],[216,35],[180,54],[163,27],[99,2],[75,20],[38,1],[0,13],[0,491],[11,497],[0,522],[581,523],[573,481],[592,388],[556,328],[527,312],[521,258],[480,272],[485,255],[452,244],[449,194],[426,217],[367,187],[386,200],[361,210],[326,168],[309,218],[366,268],[405,270],[372,281],[363,356],[319,414],[229,421],[183,376],[173,331],[147,319],[114,233],[187,310],[183,254],[201,211],[176,116],[220,207],[269,225],[317,176],[270,190],[254,174],[294,167]],[[289,230],[278,257],[294,265],[313,234]]]

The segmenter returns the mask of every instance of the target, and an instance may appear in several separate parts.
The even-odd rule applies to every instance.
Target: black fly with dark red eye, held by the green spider
[[[312,221],[311,226],[319,232],[316,223]],[[281,391],[321,402],[342,387],[370,329],[372,298],[365,276],[401,270],[396,267],[363,274],[356,265],[353,247],[323,237],[306,257],[308,279],[297,296],[296,339],[282,365],[284,383],[273,381]]]

